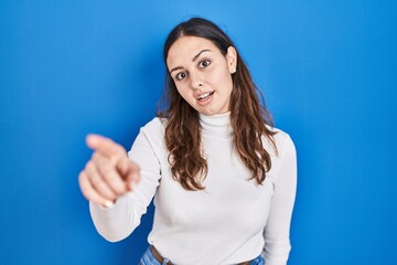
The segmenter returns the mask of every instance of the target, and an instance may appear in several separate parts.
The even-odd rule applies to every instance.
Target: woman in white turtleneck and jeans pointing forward
[[[127,237],[154,198],[140,264],[286,264],[296,150],[272,127],[229,38],[211,21],[176,25],[163,51],[168,108],[141,128],[128,156],[88,136],[79,174],[97,231]]]

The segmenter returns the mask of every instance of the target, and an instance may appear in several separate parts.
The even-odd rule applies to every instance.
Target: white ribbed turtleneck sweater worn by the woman
[[[153,227],[148,242],[174,264],[236,264],[265,257],[266,265],[287,264],[289,230],[297,186],[296,150],[278,129],[278,155],[262,186],[234,150],[229,113],[200,116],[208,165],[205,190],[187,191],[172,178],[164,147],[164,124],[154,118],[141,128],[129,158],[141,168],[141,181],[110,209],[90,203],[94,224],[106,240],[127,237],[154,197]]]

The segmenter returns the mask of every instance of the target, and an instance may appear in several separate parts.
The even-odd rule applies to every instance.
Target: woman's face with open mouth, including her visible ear
[[[167,66],[189,105],[201,114],[215,115],[229,110],[236,60],[233,46],[225,56],[212,41],[182,36],[171,45]]]

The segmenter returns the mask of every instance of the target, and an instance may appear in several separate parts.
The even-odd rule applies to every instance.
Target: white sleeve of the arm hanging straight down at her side
[[[280,153],[275,194],[264,231],[266,265],[286,265],[291,250],[289,232],[297,189],[297,156],[289,136]]]

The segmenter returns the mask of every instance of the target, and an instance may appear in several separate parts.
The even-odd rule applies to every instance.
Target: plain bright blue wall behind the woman
[[[88,132],[129,148],[162,93],[162,44],[202,15],[235,40],[299,184],[289,264],[397,264],[397,1],[0,2],[0,264],[136,264],[92,224]],[[222,246],[219,246],[222,247]]]

